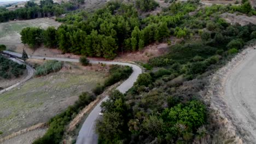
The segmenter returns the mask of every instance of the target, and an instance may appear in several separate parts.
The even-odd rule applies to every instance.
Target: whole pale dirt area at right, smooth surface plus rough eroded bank
[[[256,50],[248,47],[211,76],[207,99],[223,125],[223,140],[256,143],[255,72]]]

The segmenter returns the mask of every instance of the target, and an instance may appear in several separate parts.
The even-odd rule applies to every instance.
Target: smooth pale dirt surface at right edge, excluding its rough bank
[[[224,98],[246,143],[256,143],[256,50],[228,75]]]

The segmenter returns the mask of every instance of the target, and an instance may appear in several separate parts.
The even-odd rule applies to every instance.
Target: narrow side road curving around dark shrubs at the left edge
[[[25,64],[24,62],[20,61],[19,59],[15,59],[15,58],[10,58],[12,61],[17,62],[19,64]],[[26,82],[27,80],[31,79],[31,77],[34,74],[34,69],[30,67],[30,65],[26,64],[26,69],[27,69],[27,76],[25,77],[25,79],[21,80],[20,82],[16,83],[15,85],[12,85],[10,87],[4,88],[0,91],[0,94],[10,91],[10,89],[13,89],[15,87],[18,87],[19,85],[21,85],[22,83]]]

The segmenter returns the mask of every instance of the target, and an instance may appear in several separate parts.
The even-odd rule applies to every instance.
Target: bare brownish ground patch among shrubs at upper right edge
[[[230,14],[230,13],[224,13],[220,15],[223,17],[227,22],[231,23],[231,25],[234,25],[236,23],[239,23],[241,26],[246,26],[250,23],[256,25],[256,16],[247,16],[245,14]]]

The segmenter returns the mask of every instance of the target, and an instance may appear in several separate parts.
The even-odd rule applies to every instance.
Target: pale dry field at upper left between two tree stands
[[[20,32],[25,27],[47,28],[49,26],[58,27],[60,22],[53,19],[41,18],[33,20],[10,21],[0,23],[0,44],[7,45],[8,49],[21,45]]]

